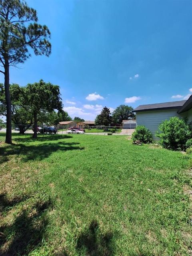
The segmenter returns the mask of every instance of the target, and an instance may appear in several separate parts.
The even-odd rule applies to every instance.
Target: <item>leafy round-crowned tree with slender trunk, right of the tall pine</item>
[[[36,138],[38,115],[41,112],[53,112],[54,109],[62,109],[59,86],[40,80],[34,84],[27,84],[25,87],[20,87],[19,95],[21,106],[28,109],[33,115],[33,138]]]

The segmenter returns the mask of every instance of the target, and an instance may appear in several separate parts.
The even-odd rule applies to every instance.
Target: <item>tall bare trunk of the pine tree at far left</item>
[[[5,143],[12,144],[12,131],[11,131],[11,97],[9,91],[9,62],[5,59],[5,99],[6,99],[6,139]]]

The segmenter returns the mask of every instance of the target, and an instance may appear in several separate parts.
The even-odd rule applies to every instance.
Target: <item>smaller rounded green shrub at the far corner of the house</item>
[[[152,133],[144,125],[138,125],[132,134],[132,140],[134,142],[140,140],[143,143],[151,143]]]

